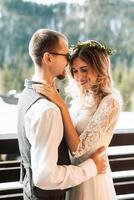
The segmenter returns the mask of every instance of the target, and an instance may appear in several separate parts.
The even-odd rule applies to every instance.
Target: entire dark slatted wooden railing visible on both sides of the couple
[[[22,200],[20,155],[15,134],[0,134],[0,199]],[[118,130],[108,148],[117,199],[134,200],[134,130]]]

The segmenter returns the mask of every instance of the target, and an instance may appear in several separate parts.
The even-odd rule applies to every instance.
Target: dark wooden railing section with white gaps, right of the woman
[[[118,199],[134,200],[134,130],[118,130],[108,153]]]

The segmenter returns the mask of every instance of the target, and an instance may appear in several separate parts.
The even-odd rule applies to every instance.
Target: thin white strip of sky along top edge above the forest
[[[50,4],[55,4],[55,3],[59,3],[59,2],[82,4],[82,3],[84,3],[85,0],[23,0],[23,1],[31,1],[31,2],[36,2],[39,4],[42,3],[45,5],[50,5]]]

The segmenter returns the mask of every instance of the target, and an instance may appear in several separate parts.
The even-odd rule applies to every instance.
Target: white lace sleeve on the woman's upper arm
[[[98,147],[107,147],[119,117],[121,104],[117,97],[108,95],[100,102],[95,114],[81,133],[80,143],[73,156],[78,158],[86,152],[93,153]]]

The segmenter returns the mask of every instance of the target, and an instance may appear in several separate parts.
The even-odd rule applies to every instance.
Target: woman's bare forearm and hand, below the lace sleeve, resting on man
[[[48,99],[50,99],[54,104],[56,104],[61,110],[64,129],[65,129],[65,138],[68,147],[70,149],[70,152],[73,154],[73,152],[76,152],[78,148],[78,145],[80,143],[80,138],[73,126],[67,105],[60,97],[55,87],[52,87],[48,84],[46,85],[35,84],[34,89],[36,90],[36,92],[43,94],[44,96],[47,96]]]

